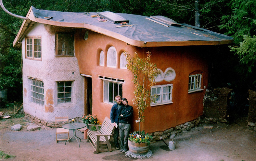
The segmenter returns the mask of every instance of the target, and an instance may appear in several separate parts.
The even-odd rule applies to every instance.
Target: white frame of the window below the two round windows
[[[171,91],[164,93],[164,91],[163,91],[164,87],[171,87]],[[153,88],[156,88],[156,89],[160,88],[160,92],[159,93],[152,93]],[[151,102],[150,106],[158,106],[158,105],[173,103],[173,101],[172,101],[173,100],[173,84],[163,84],[163,85],[153,86],[153,87],[151,87],[150,93],[151,93],[152,97],[154,96],[154,94],[158,94],[158,97],[160,97],[160,99],[158,101],[156,101],[156,103]],[[170,94],[170,99],[164,100],[163,95],[167,95],[168,93]]]

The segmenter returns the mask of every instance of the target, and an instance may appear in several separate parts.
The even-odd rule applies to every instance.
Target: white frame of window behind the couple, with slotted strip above
[[[120,93],[120,85],[123,85],[123,83],[125,82],[124,80],[121,79],[116,79],[116,78],[110,78],[110,77],[104,77],[104,76],[99,76],[99,79],[103,80],[103,102],[108,103],[108,104],[115,104],[115,96],[116,95],[121,95],[122,93]],[[110,87],[109,84],[112,83],[112,91],[110,92]],[[115,93],[115,87],[114,84],[117,85],[117,93]],[[112,93],[112,96],[110,96],[110,93]],[[112,102],[109,101],[109,97],[112,97]]]

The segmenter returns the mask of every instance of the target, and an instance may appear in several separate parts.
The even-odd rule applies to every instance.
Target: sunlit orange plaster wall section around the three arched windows
[[[126,97],[132,104],[134,84],[132,83],[132,74],[125,69],[120,69],[120,55],[123,51],[134,53],[138,49],[128,45],[122,41],[107,37],[89,31],[87,40],[83,39],[85,30],[78,30],[75,35],[75,50],[78,59],[79,69],[81,74],[90,75],[92,77],[93,90],[93,111],[100,122],[107,116],[109,117],[112,105],[103,101],[103,80],[98,79],[98,76],[122,79],[125,82],[122,85],[123,97]],[[107,67],[107,51],[109,47],[115,47],[117,50],[117,68]],[[104,52],[104,66],[99,65],[99,55]],[[136,110],[136,109],[135,109]]]

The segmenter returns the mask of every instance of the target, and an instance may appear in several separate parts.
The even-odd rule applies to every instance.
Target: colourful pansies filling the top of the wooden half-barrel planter
[[[128,140],[134,142],[134,143],[147,143],[150,144],[150,141],[152,140],[152,136],[150,136],[146,131],[142,131],[139,135],[139,131],[134,131],[133,133],[129,134]]]

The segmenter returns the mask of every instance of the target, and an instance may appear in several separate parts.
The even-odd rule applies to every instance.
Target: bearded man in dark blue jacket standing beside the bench
[[[116,104],[114,104],[111,108],[110,111],[110,120],[111,123],[115,123],[116,125],[118,125],[118,115],[119,115],[119,109],[123,106],[122,101],[121,101],[122,97],[121,96],[115,96],[115,101],[117,102]],[[118,126],[115,128],[114,130],[114,134],[113,134],[113,138],[114,138],[114,142],[115,142],[115,148],[117,150],[119,150],[119,143],[118,143],[118,135],[119,135],[119,128]]]

